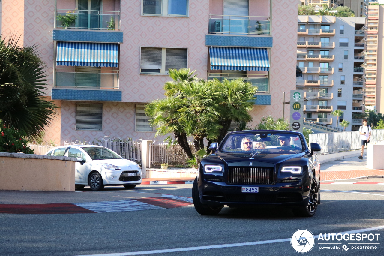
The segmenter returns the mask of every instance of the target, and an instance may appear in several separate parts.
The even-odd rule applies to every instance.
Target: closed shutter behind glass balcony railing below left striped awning
[[[75,66],[74,85],[77,87],[100,87],[100,67]]]

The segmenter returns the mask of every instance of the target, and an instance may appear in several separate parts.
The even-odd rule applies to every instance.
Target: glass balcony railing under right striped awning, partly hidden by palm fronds
[[[225,71],[225,70],[223,70]],[[259,77],[257,77],[259,76]],[[241,78],[244,81],[251,82],[253,86],[257,86],[258,93],[268,93],[268,78],[267,77],[260,77],[262,75],[247,75],[244,74],[243,76],[238,74],[225,74],[225,73],[208,73],[207,79],[214,79],[217,78],[219,81],[223,81],[224,78],[227,78],[228,80],[232,79],[238,79]]]

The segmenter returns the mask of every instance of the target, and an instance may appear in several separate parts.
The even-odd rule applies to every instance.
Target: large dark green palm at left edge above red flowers
[[[0,120],[32,138],[50,125],[58,106],[43,96],[45,64],[36,46],[17,43],[15,37],[7,43],[0,38]]]

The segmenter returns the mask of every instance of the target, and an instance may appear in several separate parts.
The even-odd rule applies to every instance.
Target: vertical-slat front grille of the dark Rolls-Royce
[[[230,184],[266,184],[275,183],[273,167],[228,167]]]

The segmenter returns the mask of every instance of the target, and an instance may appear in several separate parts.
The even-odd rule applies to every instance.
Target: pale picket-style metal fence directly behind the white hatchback
[[[120,138],[110,138],[104,137],[101,140],[93,140],[92,143],[89,141],[74,141],[66,140],[64,143],[67,145],[98,145],[109,148],[110,150],[115,151],[123,158],[134,161],[138,164],[141,164],[141,150],[142,150],[142,142],[140,139],[136,139],[136,141],[132,141],[129,138],[125,138],[124,140]]]

